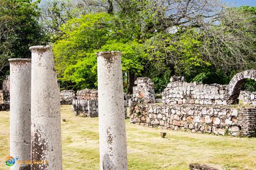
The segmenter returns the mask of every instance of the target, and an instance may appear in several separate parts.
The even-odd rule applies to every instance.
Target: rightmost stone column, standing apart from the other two
[[[121,52],[97,53],[100,169],[127,169]]]

